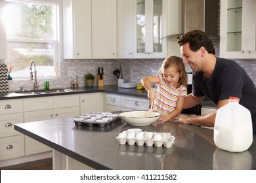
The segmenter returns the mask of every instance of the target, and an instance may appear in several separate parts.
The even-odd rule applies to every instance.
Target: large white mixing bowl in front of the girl
[[[153,122],[156,122],[160,118],[160,113],[153,112],[151,117],[148,117],[148,111],[144,110],[135,110],[128,112],[121,112],[119,117],[123,122],[126,122],[129,125],[133,126],[146,126],[150,125]]]

